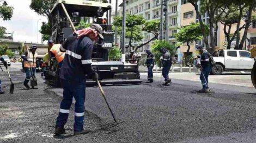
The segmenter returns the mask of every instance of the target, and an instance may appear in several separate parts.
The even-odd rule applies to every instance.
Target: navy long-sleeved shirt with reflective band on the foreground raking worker
[[[95,72],[91,65],[93,41],[89,37],[77,38],[75,35],[70,35],[62,43],[60,51],[66,53],[59,74],[60,79],[85,83],[86,74],[90,76]]]

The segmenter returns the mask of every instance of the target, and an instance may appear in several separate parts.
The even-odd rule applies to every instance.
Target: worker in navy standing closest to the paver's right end
[[[153,67],[155,64],[155,55],[151,53],[149,49],[146,50],[147,61],[146,65],[148,67],[148,82],[153,82]]]

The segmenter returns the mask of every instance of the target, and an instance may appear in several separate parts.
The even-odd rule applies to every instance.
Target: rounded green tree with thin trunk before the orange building
[[[209,26],[204,25],[206,30],[206,35],[209,35]],[[187,25],[185,27],[179,28],[179,32],[175,34],[176,40],[181,43],[187,44],[187,56],[190,53],[190,42],[191,41],[197,41],[202,40],[202,29],[200,27],[200,23],[191,23],[190,25]]]

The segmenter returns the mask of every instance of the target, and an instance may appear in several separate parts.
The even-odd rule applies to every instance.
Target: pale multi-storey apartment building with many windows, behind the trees
[[[153,19],[160,19],[161,14],[161,0],[127,0],[126,1],[126,14],[131,15],[141,15],[147,21]],[[177,28],[180,27],[180,8],[181,1],[180,0],[168,0],[168,8],[167,8],[167,16],[168,16],[168,39],[173,44],[176,43],[176,39],[174,34],[177,32]],[[120,6],[118,11],[118,15],[121,16],[123,14],[123,3]],[[115,12],[112,12],[112,17],[115,16]],[[143,40],[139,42],[133,42],[133,46],[139,46],[142,43],[149,41],[154,37],[153,34],[149,34],[147,32],[143,32]],[[120,40],[118,40],[120,41]],[[154,42],[154,41],[153,41]],[[147,49],[151,48],[153,42],[143,46],[139,49],[139,51],[144,52]],[[126,44],[129,43],[129,40],[126,40]],[[128,51],[126,51],[128,52]]]

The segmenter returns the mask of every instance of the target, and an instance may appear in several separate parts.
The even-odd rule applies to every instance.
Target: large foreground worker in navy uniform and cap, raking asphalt
[[[89,131],[83,128],[84,102],[86,98],[86,74],[93,80],[98,80],[98,75],[92,68],[93,41],[103,39],[102,27],[92,24],[89,28],[75,31],[62,43],[60,51],[66,52],[60,70],[60,80],[63,86],[63,100],[60,103],[54,134],[65,133],[65,124],[68,121],[72,98],[75,103],[74,135],[86,134]]]

